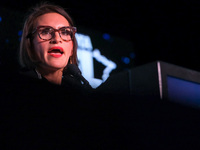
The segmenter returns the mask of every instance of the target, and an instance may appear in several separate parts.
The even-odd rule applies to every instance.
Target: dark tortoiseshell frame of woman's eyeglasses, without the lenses
[[[39,33],[40,28],[51,28],[51,29],[53,30],[53,32],[52,32],[53,35],[51,36],[51,38],[50,38],[50,39],[43,39],[43,38],[41,38],[40,33]],[[71,39],[70,39],[70,40],[65,40],[65,39],[63,39],[62,36],[60,35],[60,31],[61,31],[62,29],[64,29],[64,28],[68,28],[68,29],[70,29],[70,31],[72,32],[72,35],[70,35],[70,36],[71,36]],[[58,33],[59,33],[59,36],[60,36],[60,38],[61,38],[63,41],[71,41],[71,40],[73,40],[73,38],[74,38],[74,36],[75,36],[75,33],[77,32],[77,28],[76,28],[76,27],[72,27],[72,26],[64,26],[64,27],[61,27],[61,28],[59,28],[59,29],[54,29],[54,28],[51,27],[51,26],[38,26],[38,27],[35,28],[35,30],[34,30],[32,33],[29,33],[29,34],[27,35],[27,38],[30,38],[33,34],[35,34],[35,32],[37,32],[37,33],[38,33],[37,35],[39,36],[39,38],[42,39],[42,40],[44,40],[44,41],[49,41],[49,40],[51,40],[52,38],[54,38],[54,37],[55,37],[55,32],[58,32]]]

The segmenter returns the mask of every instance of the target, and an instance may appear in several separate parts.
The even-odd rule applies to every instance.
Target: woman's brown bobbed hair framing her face
[[[35,24],[39,16],[52,12],[64,16],[69,22],[70,26],[74,26],[74,23],[69,14],[64,10],[64,8],[60,6],[45,2],[32,8],[31,13],[28,15],[24,23],[23,34],[20,43],[19,61],[22,67],[29,69],[36,67],[38,60],[36,59],[35,52],[33,50],[32,38],[27,38],[27,35],[32,33],[36,28]],[[77,41],[75,36],[73,37],[73,54],[70,57],[70,61],[72,64],[77,65]]]

